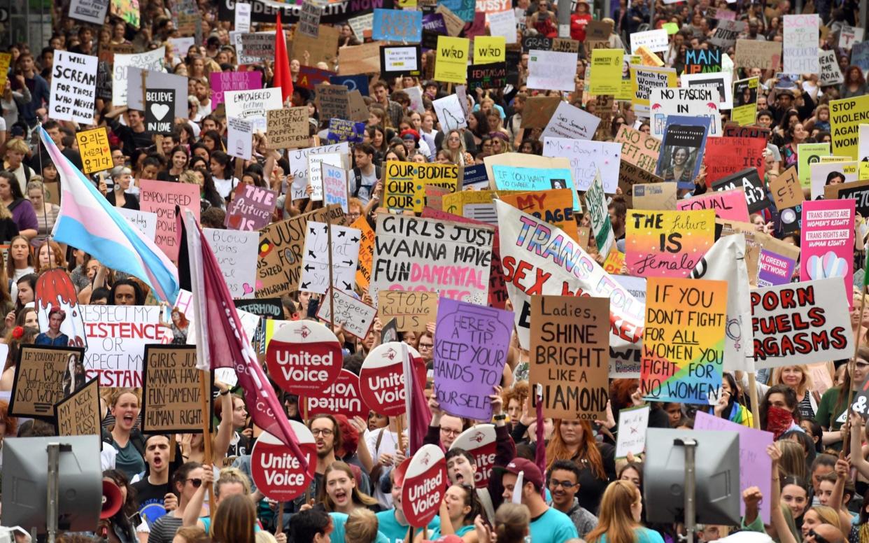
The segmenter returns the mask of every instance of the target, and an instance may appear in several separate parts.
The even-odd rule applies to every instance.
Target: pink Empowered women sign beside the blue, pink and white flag
[[[176,206],[189,209],[199,222],[199,186],[190,183],[139,180],[139,207],[157,214],[154,242],[171,260],[178,259],[178,234],[176,231]]]

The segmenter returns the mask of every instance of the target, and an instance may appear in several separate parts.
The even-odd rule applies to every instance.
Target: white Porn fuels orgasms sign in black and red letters
[[[850,298],[842,295],[838,277],[753,290],[754,365],[775,368],[851,356]]]

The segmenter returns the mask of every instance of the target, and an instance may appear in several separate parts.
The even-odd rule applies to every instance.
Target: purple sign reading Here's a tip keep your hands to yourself
[[[448,414],[492,418],[489,394],[501,382],[513,312],[441,298],[434,333],[434,396]]]

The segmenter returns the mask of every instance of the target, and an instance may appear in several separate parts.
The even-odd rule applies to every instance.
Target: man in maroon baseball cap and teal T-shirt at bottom
[[[516,487],[520,473],[521,487]],[[563,543],[579,538],[570,517],[546,505],[542,494],[543,482],[541,469],[531,460],[514,458],[507,467],[501,468],[504,501],[521,503],[528,508],[531,513],[531,540],[534,543]]]

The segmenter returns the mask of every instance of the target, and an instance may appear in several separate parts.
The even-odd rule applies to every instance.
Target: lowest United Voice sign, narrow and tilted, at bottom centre
[[[473,5],[473,3],[472,3]],[[410,526],[434,519],[447,488],[447,460],[438,445],[423,445],[408,464],[401,487],[401,511]]]

